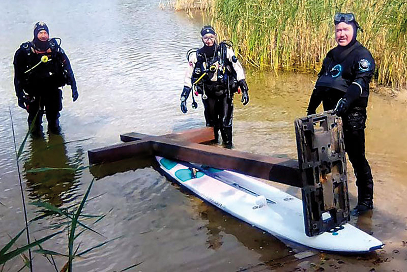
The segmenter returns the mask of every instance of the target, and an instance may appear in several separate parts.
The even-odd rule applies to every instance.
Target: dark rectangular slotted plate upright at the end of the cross
[[[295,128],[305,233],[315,236],[350,220],[341,119],[327,111],[297,119]]]

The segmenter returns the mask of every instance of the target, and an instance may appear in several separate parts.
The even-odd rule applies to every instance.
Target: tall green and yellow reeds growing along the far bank
[[[394,0],[178,0],[200,2],[220,39],[235,43],[246,64],[260,69],[319,71],[334,47],[333,15],[355,13],[358,40],[376,62],[375,83],[407,88],[407,1]],[[187,5],[189,3],[189,6]],[[191,4],[192,3],[192,4]]]

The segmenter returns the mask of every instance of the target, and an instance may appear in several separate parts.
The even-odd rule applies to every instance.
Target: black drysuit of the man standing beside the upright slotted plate
[[[352,163],[358,186],[358,205],[372,207],[373,177],[365,156],[366,107],[369,82],[375,64],[370,52],[355,41],[328,52],[312,92],[308,113],[315,113],[321,102],[332,110],[341,98],[350,101],[342,115],[345,150]]]

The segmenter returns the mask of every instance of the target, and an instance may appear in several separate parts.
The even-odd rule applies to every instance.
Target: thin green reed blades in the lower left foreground
[[[80,247],[82,246],[81,242],[76,243],[76,249],[74,248],[75,241],[77,241],[78,237],[84,233],[85,231],[91,231],[96,234],[99,234],[100,236],[104,237],[101,233],[97,232],[90,226],[86,225],[83,223],[84,220],[89,220],[89,219],[94,219],[95,221],[93,222],[93,225],[97,224],[99,221],[101,221],[105,215],[86,215],[83,213],[83,209],[86,203],[88,203],[90,200],[95,199],[97,197],[100,197],[102,195],[97,195],[95,197],[92,197],[88,199],[90,191],[92,189],[92,186],[94,184],[95,179],[92,180],[90,185],[88,186],[88,189],[86,190],[85,194],[83,195],[80,203],[76,203],[73,205],[70,205],[65,208],[60,208],[56,207],[50,203],[47,202],[42,202],[42,201],[35,201],[31,202],[29,204],[34,205],[36,207],[41,208],[41,214],[31,220],[27,220],[27,212],[26,212],[26,205],[25,205],[25,198],[24,198],[24,192],[23,192],[23,187],[22,187],[22,178],[21,178],[21,173],[20,173],[20,168],[19,168],[19,160],[21,158],[21,155],[23,154],[23,150],[25,148],[25,144],[27,141],[28,136],[33,132],[35,120],[37,118],[38,112],[33,120],[33,123],[30,127],[30,129],[26,132],[24,139],[22,140],[22,143],[20,144],[18,151],[17,151],[17,144],[16,144],[16,138],[15,138],[15,133],[14,133],[14,123],[13,123],[13,117],[12,117],[12,112],[11,108],[9,108],[10,111],[10,118],[11,118],[11,127],[12,127],[12,132],[13,132],[13,139],[14,139],[14,149],[15,149],[15,156],[16,156],[16,164],[17,164],[17,170],[18,170],[18,177],[19,177],[19,184],[20,184],[20,189],[21,189],[21,197],[22,197],[22,206],[24,210],[24,219],[25,219],[25,228],[19,231],[14,237],[10,236],[10,241],[3,247],[0,247],[0,272],[5,271],[5,264],[14,259],[17,256],[21,256],[24,261],[24,265],[18,270],[21,271],[24,268],[29,268],[31,271],[33,271],[33,263],[32,263],[32,254],[31,254],[31,249],[38,247],[39,249],[34,250],[35,253],[43,255],[48,262],[52,265],[53,269],[56,272],[72,272],[73,271],[73,261],[75,258],[80,258],[83,255],[100,248],[108,243],[110,243],[113,240],[120,239],[123,236],[118,236],[109,240],[106,240],[96,246],[90,247],[88,249],[80,250]],[[88,138],[89,139],[89,138]],[[82,140],[76,140],[76,141],[70,141],[70,142],[79,142],[79,141],[84,141],[88,139],[82,139]],[[68,143],[68,142],[66,142]],[[65,143],[65,144],[66,144]],[[51,146],[52,148],[52,146]],[[41,168],[35,168],[28,170],[27,172],[33,172],[33,173],[38,173],[38,172],[46,172],[46,171],[79,171],[88,168],[89,166],[79,166],[76,168],[53,168],[53,167],[41,167]],[[4,205],[3,203],[1,203]],[[56,224],[49,226],[50,229],[59,229],[62,228],[60,231],[54,231],[52,234],[47,235],[45,237],[42,237],[40,239],[35,239],[34,242],[30,240],[30,232],[29,232],[29,226],[38,220],[41,219],[47,219],[48,217],[54,217],[54,216],[59,216],[62,218],[62,223]],[[65,221],[66,219],[66,221]],[[54,250],[47,250],[42,247],[42,244],[51,239],[52,237],[59,235],[63,232],[67,231],[68,232],[68,254],[56,252]],[[19,239],[19,237],[26,232],[26,244],[22,247],[16,247],[16,243]],[[16,248],[13,250],[13,248]],[[29,257],[25,256],[25,252],[28,251]],[[65,265],[61,268],[58,269],[57,265],[55,263],[55,260],[53,256],[59,256],[59,257],[64,257],[67,258],[67,261]],[[126,267],[122,269],[121,271],[127,271],[131,268],[134,268],[141,264],[142,262],[138,262],[136,264],[133,264],[129,267]]]

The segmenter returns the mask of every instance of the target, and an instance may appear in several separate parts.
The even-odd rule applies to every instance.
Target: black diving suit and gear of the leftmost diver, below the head
[[[43,56],[48,57],[47,62],[41,62]],[[62,110],[60,87],[69,84],[76,89],[75,77],[64,50],[55,39],[49,40],[49,46],[44,51],[36,50],[33,42],[26,42],[15,52],[13,64],[16,95],[19,99],[24,92],[28,95],[28,125],[38,112],[35,122],[38,128],[45,108],[48,128],[58,129]]]

